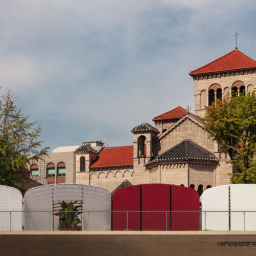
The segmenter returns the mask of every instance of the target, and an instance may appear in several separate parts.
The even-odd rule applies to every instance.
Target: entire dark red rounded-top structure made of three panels
[[[142,184],[120,188],[115,192],[112,203],[114,211],[140,210],[140,203],[143,211],[169,211],[171,206],[172,210],[199,211],[199,196],[196,190],[169,184]],[[113,230],[125,230],[126,223],[126,212],[113,213]],[[142,230],[170,230],[170,214],[167,212],[166,216],[165,212],[142,212],[140,223],[140,213],[130,212],[128,228],[140,230],[140,224]],[[199,212],[172,212],[172,230],[199,230]]]

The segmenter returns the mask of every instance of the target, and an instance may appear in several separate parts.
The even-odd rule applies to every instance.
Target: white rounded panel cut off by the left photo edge
[[[0,230],[22,230],[22,193],[9,186],[0,185]]]

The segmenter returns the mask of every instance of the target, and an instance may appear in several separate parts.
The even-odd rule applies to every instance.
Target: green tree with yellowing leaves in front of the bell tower
[[[230,157],[232,183],[256,183],[256,96],[225,96],[206,107],[205,130]]]

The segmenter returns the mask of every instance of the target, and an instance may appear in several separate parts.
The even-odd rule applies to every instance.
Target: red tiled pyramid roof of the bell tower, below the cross
[[[251,68],[256,68],[256,61],[235,49],[207,65],[191,71],[189,75]]]

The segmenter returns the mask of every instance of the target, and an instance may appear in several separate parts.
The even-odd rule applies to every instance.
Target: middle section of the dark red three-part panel
[[[142,210],[169,211],[170,185],[142,185]],[[142,230],[170,230],[169,227],[169,212],[142,212]]]

